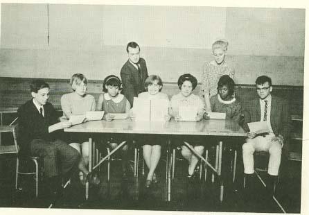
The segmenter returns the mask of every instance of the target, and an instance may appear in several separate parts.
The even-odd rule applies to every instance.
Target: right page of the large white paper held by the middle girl
[[[169,105],[170,102],[167,99],[152,99],[150,101],[150,121],[165,121]]]

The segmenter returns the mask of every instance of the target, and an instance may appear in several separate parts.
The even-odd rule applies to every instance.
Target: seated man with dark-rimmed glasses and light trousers
[[[254,175],[254,152],[266,151],[270,153],[266,189],[267,196],[271,198],[281,163],[283,141],[287,140],[290,136],[292,121],[288,102],[271,95],[271,78],[267,76],[258,77],[256,79],[256,92],[258,98],[249,101],[247,107],[245,107],[244,129],[248,132],[248,139],[242,145],[242,158],[246,187],[249,195],[254,196],[254,193],[250,193],[252,191],[252,178]],[[247,123],[254,121],[267,121],[271,132],[262,135],[250,132]]]

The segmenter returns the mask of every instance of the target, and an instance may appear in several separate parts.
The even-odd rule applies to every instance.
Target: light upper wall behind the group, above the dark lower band
[[[89,79],[119,76],[125,46],[136,41],[149,74],[201,80],[211,44],[229,41],[236,83],[267,74],[274,85],[303,85],[305,10],[177,6],[1,6],[0,76]]]

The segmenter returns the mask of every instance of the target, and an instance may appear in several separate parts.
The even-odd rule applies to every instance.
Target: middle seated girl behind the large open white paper
[[[162,80],[159,76],[149,76],[145,80],[145,90],[146,92],[142,92],[139,94],[139,98],[143,99],[149,99],[154,101],[154,99],[165,99],[170,103],[170,100],[168,99],[168,95],[161,92],[161,89],[163,87]],[[170,120],[170,115],[166,115],[165,117],[166,121]],[[157,175],[154,173],[155,169],[157,168],[157,165],[159,163],[160,157],[161,157],[161,142],[164,141],[164,139],[161,139],[159,137],[150,136],[150,141],[143,144],[143,158],[145,160],[145,163],[149,169],[148,175],[145,182],[145,187],[149,188],[152,182],[157,183]]]

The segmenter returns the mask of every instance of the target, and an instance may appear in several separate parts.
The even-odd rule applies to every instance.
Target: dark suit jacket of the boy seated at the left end
[[[48,132],[48,127],[58,122],[57,114],[51,103],[46,103],[43,107],[44,117],[39,114],[32,99],[17,110],[19,118],[18,142],[23,154],[30,155],[30,142],[33,139],[46,141],[55,139],[54,135]]]

